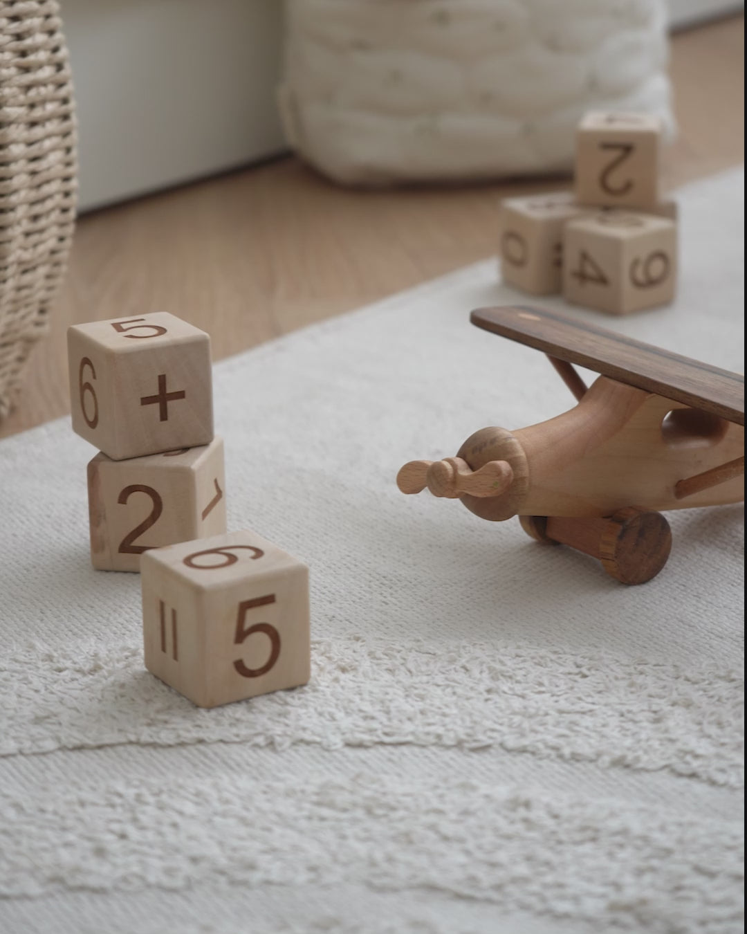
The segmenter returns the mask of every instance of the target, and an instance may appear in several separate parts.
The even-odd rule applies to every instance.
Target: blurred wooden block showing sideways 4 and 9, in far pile
[[[667,218],[602,211],[566,225],[563,295],[612,315],[674,298],[677,228]]]

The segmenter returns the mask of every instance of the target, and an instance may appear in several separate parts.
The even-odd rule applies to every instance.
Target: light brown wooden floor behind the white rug
[[[742,162],[743,61],[741,17],[674,37],[668,187]],[[84,217],[0,437],[69,411],[71,323],[170,311],[208,331],[219,360],[493,254],[499,199],[557,187],[345,191],[284,159]]]

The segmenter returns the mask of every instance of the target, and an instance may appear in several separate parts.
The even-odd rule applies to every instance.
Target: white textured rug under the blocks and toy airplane
[[[684,191],[677,304],[602,323],[740,369],[741,191]],[[486,261],[216,367],[230,525],[312,568],[300,690],[204,711],[145,672],[139,578],[89,564],[92,449],[0,443],[1,929],[740,930],[741,508],[672,515],[627,588],[395,487],[570,407],[467,323],[515,301]]]

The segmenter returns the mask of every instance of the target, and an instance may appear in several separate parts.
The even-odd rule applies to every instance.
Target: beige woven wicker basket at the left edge
[[[0,418],[45,332],[75,221],[73,88],[54,0],[0,0]]]

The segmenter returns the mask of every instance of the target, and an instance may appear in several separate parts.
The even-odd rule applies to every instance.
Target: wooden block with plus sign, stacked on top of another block
[[[73,431],[113,460],[213,440],[210,338],[165,312],[67,331]]]

